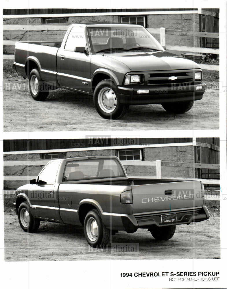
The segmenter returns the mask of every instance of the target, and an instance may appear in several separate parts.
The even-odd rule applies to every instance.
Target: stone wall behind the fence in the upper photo
[[[7,18],[3,19],[3,25],[41,25],[40,18]],[[69,24],[80,22],[120,22],[120,16],[73,16],[69,17]],[[165,27],[168,29],[179,29],[185,31],[199,31],[199,14],[154,14],[147,15],[148,28]],[[62,41],[65,31],[4,31],[3,40],[38,40],[38,41]],[[160,42],[160,34],[153,34]],[[166,45],[195,46],[200,45],[200,39],[182,34],[166,34]],[[4,53],[13,54],[14,46],[5,46]],[[179,53],[178,53],[179,54]]]

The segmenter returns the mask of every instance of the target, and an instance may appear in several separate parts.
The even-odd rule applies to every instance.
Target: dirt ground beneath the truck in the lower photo
[[[5,261],[216,259],[220,258],[219,211],[210,215],[206,221],[177,226],[169,241],[156,241],[146,229],[133,234],[119,231],[112,236],[112,246],[139,243],[139,252],[113,253],[110,245],[92,250],[82,227],[43,221],[37,233],[25,233],[14,211],[6,208]]]

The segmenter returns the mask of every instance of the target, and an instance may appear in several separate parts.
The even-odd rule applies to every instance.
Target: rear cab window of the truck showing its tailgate
[[[67,162],[62,181],[125,177],[116,159],[92,159]]]

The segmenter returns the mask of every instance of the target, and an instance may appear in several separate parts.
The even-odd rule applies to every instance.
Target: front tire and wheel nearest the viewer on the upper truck
[[[110,96],[111,101],[105,95]],[[98,114],[107,119],[122,118],[129,108],[129,105],[120,103],[117,88],[111,79],[104,79],[97,84],[93,101]]]

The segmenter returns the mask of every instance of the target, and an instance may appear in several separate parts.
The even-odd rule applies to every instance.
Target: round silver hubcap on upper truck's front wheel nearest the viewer
[[[99,107],[104,112],[113,112],[117,106],[117,97],[115,92],[108,87],[102,88],[98,94],[98,103]]]

